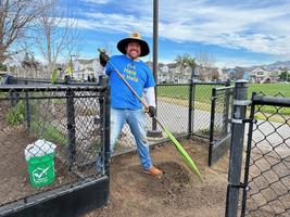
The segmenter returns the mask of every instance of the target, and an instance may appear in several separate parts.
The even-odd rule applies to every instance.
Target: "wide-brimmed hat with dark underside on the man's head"
[[[134,31],[128,36],[128,38],[124,38],[121,41],[118,41],[117,49],[119,50],[119,52],[126,54],[127,53],[126,47],[131,41],[136,41],[140,44],[141,47],[140,56],[146,56],[150,53],[148,43],[144,40],[142,40],[141,35],[138,31]]]

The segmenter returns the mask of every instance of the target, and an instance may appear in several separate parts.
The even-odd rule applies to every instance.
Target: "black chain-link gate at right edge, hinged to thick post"
[[[290,216],[289,112],[290,99],[252,97],[241,216]]]

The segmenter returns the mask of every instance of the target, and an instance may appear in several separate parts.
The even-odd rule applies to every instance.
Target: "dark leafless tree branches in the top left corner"
[[[37,15],[36,0],[0,0],[0,62],[13,53],[11,47],[27,35],[30,22]]]

